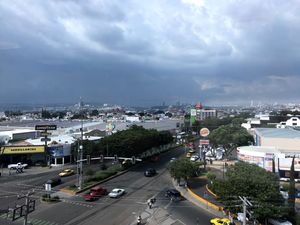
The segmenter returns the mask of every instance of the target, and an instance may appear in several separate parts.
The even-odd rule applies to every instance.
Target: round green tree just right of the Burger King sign
[[[253,136],[245,128],[232,124],[223,125],[213,130],[208,138],[213,147],[221,146],[224,148],[226,157],[236,147],[249,145],[254,142]]]

